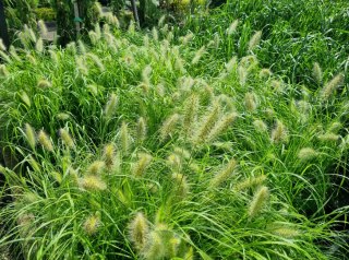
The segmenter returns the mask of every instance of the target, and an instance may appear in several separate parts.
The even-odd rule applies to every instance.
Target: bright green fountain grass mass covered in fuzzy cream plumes
[[[228,61],[221,38],[195,47],[166,25],[96,25],[63,50],[24,36],[1,52],[1,145],[17,159],[0,170],[1,245],[29,259],[348,253],[334,229],[347,209],[324,211],[347,168],[341,73],[317,91],[282,81],[253,55],[260,31]]]

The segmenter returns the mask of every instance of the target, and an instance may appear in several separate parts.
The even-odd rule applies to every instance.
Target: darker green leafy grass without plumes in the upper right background
[[[262,64],[294,83],[317,88],[311,76],[314,60],[328,80],[347,70],[348,32],[342,24],[348,20],[348,1],[344,0],[228,0],[209,13],[190,16],[179,33],[191,29],[200,36],[197,45],[218,35],[221,47],[217,56],[229,59],[244,56],[252,31],[263,31],[264,40],[254,50]],[[240,21],[240,29],[227,35],[226,28],[236,20]]]

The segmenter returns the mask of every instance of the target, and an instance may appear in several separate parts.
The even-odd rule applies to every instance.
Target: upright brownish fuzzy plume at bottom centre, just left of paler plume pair
[[[137,251],[143,250],[149,234],[147,220],[142,212],[139,212],[129,224],[129,237]]]

